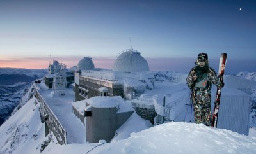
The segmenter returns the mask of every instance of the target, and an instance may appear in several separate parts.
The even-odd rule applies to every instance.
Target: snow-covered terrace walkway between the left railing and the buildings
[[[44,82],[36,84],[40,94],[44,95],[44,100],[51,108],[57,119],[67,132],[68,144],[85,142],[85,127],[83,123],[72,113],[72,102],[74,92],[71,88],[67,89],[65,96],[53,95],[54,90],[48,89]],[[81,131],[84,130],[84,131]],[[79,132],[79,134],[77,134]]]

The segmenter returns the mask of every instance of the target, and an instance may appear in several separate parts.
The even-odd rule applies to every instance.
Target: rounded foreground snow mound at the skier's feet
[[[99,144],[51,145],[43,153],[86,153]],[[112,141],[90,153],[255,153],[256,138],[205,125],[170,122]]]

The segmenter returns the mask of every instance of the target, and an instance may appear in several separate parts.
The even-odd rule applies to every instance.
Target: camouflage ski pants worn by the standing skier
[[[211,90],[196,88],[192,90],[195,123],[211,125]]]

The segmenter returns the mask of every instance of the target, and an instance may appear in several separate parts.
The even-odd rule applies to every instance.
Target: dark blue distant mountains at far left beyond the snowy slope
[[[32,81],[45,74],[47,69],[0,68],[0,125],[19,104]]]

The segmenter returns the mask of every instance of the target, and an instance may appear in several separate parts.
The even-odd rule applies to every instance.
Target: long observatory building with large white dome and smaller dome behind
[[[92,70],[92,58],[80,60],[78,67],[81,68],[81,74],[75,77],[76,101],[95,96],[126,98],[134,92],[140,94],[146,88],[154,88],[154,74],[150,73],[147,60],[140,54],[133,49],[122,51],[115,60],[113,71]]]

